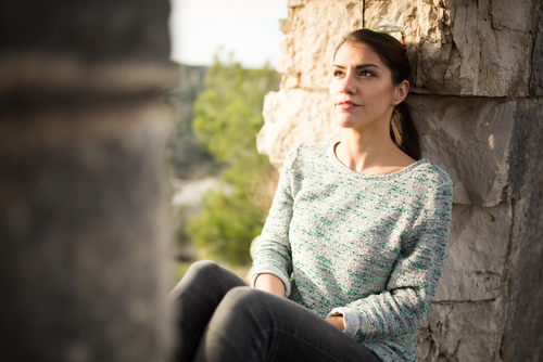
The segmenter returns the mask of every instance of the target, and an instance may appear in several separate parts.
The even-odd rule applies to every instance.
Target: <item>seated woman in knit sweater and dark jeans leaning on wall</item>
[[[441,277],[452,183],[420,159],[402,44],[361,29],[338,46],[341,141],[288,155],[252,286],[198,262],[173,290],[179,361],[415,361]],[[287,298],[286,298],[287,297]]]

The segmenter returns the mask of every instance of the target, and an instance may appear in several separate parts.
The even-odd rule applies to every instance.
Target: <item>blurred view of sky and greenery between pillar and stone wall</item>
[[[245,277],[250,245],[270,206],[277,171],[257,154],[264,95],[275,72],[287,0],[172,0],[171,60],[179,85],[165,145],[175,228],[175,275],[198,259]]]

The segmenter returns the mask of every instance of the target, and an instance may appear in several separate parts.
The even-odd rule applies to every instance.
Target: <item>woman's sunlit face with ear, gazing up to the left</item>
[[[407,95],[399,99],[397,88],[390,69],[368,46],[345,42],[336,53],[330,99],[341,127],[358,131],[390,127],[394,105]]]

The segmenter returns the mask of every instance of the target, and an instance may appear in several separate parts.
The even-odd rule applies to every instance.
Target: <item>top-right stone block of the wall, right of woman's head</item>
[[[366,25],[407,35],[416,92],[526,96],[535,1],[366,2]]]

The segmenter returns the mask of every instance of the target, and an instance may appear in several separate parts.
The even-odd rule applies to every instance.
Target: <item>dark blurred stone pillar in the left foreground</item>
[[[0,3],[0,360],[166,361],[167,0]]]

